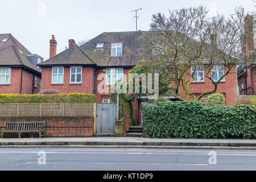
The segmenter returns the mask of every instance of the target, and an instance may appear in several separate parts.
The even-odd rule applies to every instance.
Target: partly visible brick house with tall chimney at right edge
[[[238,95],[256,94],[256,51],[254,47],[253,15],[245,18],[245,38],[242,42],[242,53],[246,59],[237,68]]]

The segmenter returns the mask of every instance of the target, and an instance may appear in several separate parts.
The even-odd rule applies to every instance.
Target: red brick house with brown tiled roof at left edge
[[[40,92],[43,57],[32,54],[11,34],[0,34],[0,93]]]

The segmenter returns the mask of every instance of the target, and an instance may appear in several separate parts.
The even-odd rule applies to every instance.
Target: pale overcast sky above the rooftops
[[[181,7],[208,7],[210,14],[234,13],[243,6],[246,13],[254,9],[252,0],[0,0],[0,33],[11,33],[31,53],[49,58],[49,39],[55,35],[57,53],[68,46],[68,39],[93,39],[102,32],[148,30],[152,14],[168,14]]]

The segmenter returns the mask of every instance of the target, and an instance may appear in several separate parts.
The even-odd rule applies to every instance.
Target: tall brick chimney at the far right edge
[[[247,14],[244,19],[245,22],[245,53],[248,55],[250,51],[254,51],[254,37],[253,37],[253,15]]]

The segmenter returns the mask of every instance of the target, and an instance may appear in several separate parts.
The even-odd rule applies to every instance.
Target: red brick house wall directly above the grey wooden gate
[[[123,68],[123,75],[128,76],[128,72],[131,68]],[[98,78],[101,77],[100,74],[103,74],[102,80],[98,80]],[[102,84],[103,81],[103,84]],[[109,98],[109,89],[110,86],[106,85],[106,73],[102,71],[102,68],[98,68],[95,71],[95,94],[96,94],[96,102],[102,103],[102,99]],[[98,87],[101,87],[102,89],[105,89],[106,92],[99,93]]]

